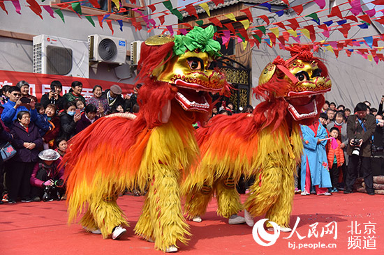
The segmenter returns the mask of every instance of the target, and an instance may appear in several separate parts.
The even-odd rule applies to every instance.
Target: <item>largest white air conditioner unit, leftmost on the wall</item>
[[[34,36],[33,41],[33,72],[89,77],[86,41],[47,35]]]

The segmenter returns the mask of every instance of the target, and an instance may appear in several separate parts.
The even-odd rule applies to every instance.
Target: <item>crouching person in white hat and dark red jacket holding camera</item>
[[[59,153],[47,149],[38,153],[38,157],[39,161],[30,178],[32,200],[60,200],[64,186],[64,167],[59,167]]]

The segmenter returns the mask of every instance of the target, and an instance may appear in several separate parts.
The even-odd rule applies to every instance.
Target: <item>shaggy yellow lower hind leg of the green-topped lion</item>
[[[82,226],[88,229],[100,229],[103,238],[108,238],[116,226],[128,226],[124,212],[117,206],[117,197],[117,194],[105,195],[103,199],[89,201],[89,214],[86,213],[81,219]]]

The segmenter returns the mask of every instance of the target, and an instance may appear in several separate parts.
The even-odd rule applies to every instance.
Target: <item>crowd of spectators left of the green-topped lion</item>
[[[118,85],[103,91],[93,88],[93,96],[82,96],[82,83],[75,81],[61,95],[62,84],[52,81],[50,92],[40,102],[29,94],[29,84],[0,90],[0,146],[10,143],[17,153],[10,159],[0,157],[0,203],[52,201],[65,193],[61,157],[67,141],[102,116],[117,112],[137,113],[137,93],[121,95]]]

